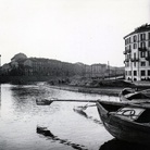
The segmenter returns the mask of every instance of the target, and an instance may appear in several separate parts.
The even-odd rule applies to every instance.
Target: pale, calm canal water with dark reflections
[[[113,146],[116,150],[122,146],[121,150],[126,146],[104,129],[96,107],[77,113],[74,108],[86,103],[36,104],[36,99],[50,97],[114,101],[117,97],[53,89],[43,83],[2,84],[0,96],[0,150],[113,150]]]

